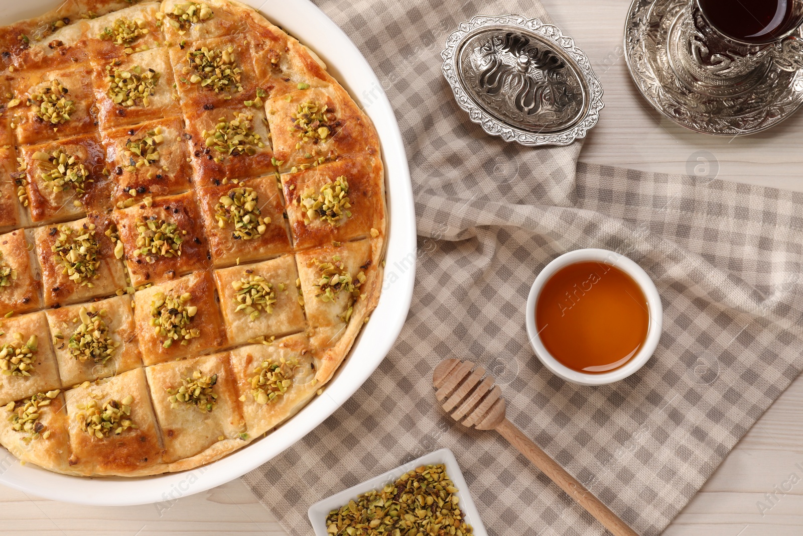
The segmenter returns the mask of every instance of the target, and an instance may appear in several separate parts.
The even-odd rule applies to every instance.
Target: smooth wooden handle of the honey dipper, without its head
[[[516,449],[524,454],[528,460],[536,464],[536,467],[541,470],[547,477],[552,479],[555,484],[560,486],[569,497],[572,497],[579,505],[585,508],[598,522],[602,523],[606,529],[610,530],[614,536],[638,536],[638,534],[625,524],[618,516],[611,512],[610,509],[602,504],[602,502],[594,497],[588,489],[578,482],[572,475],[566,473],[565,468],[560,467],[555,460],[552,460],[548,454],[542,451],[538,445],[532,442],[528,436],[524,435],[515,424],[509,420],[504,419],[499,426],[496,427],[496,432],[502,435],[503,438],[508,440]]]

